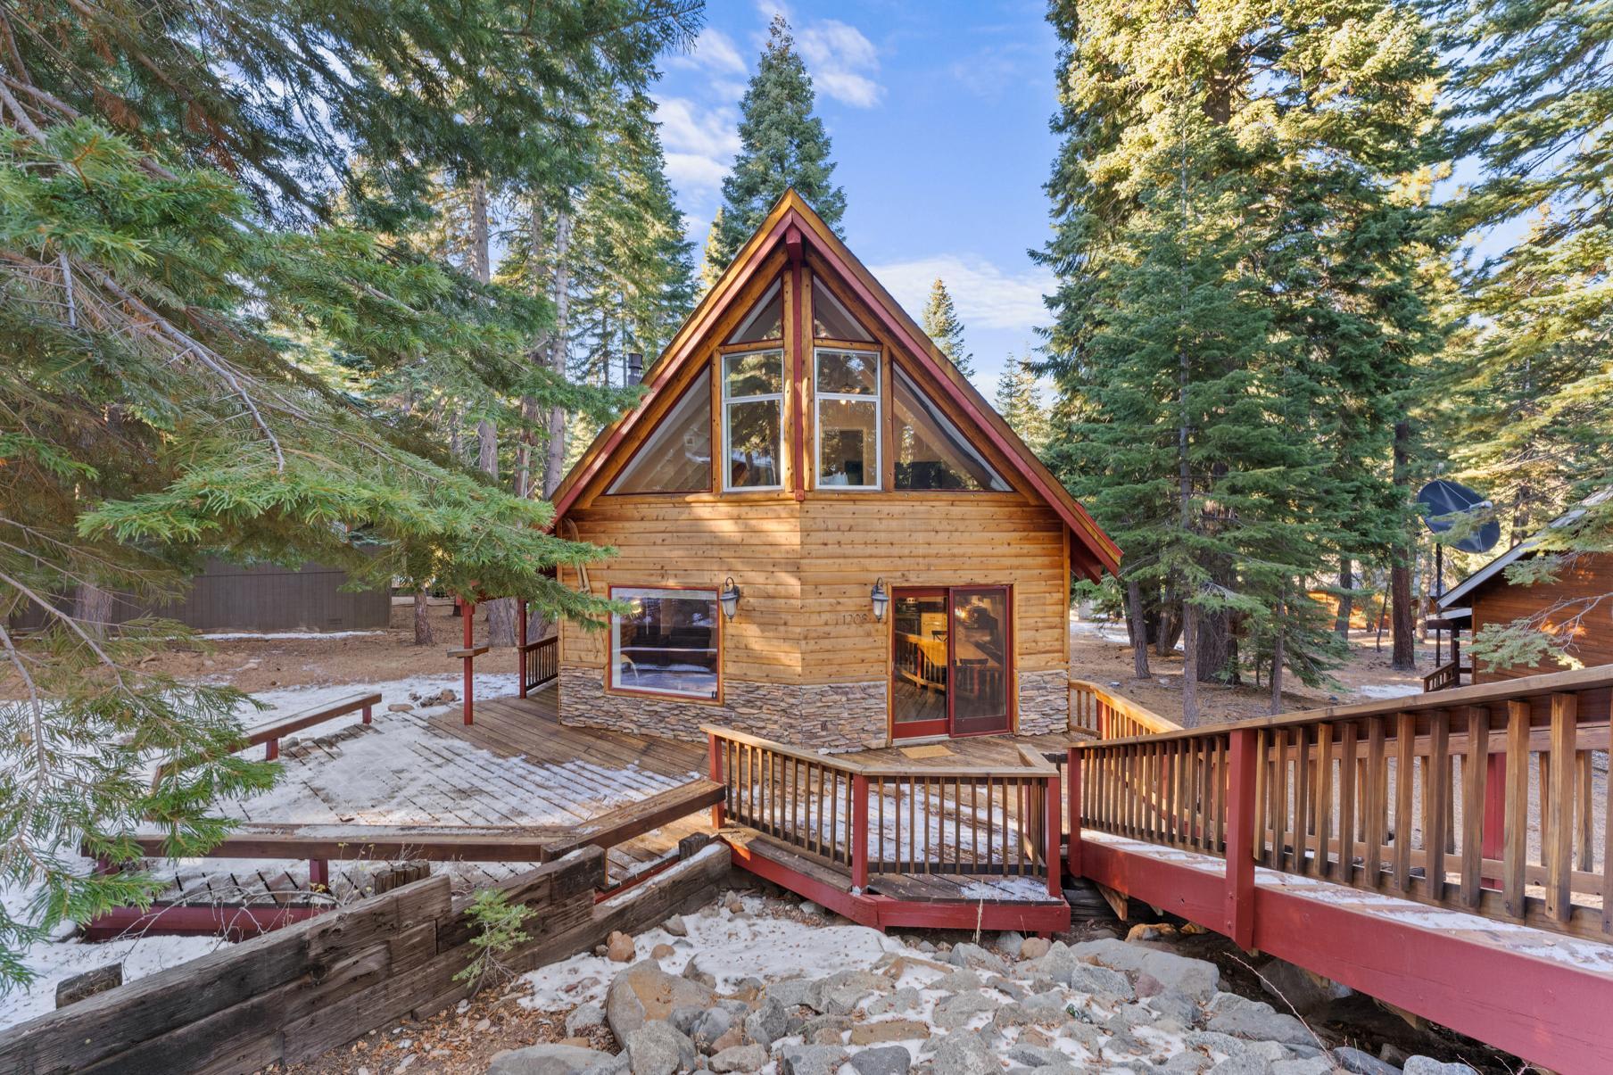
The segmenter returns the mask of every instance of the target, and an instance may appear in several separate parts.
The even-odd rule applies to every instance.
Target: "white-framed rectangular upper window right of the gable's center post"
[[[813,399],[818,408],[818,487],[879,487],[879,352],[819,347]]]

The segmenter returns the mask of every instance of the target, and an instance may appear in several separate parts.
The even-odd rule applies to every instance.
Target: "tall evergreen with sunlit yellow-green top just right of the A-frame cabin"
[[[1284,668],[1318,681],[1339,642],[1297,597],[1324,554],[1407,518],[1389,491],[1344,517],[1332,478],[1345,452],[1387,457],[1407,363],[1437,342],[1411,253],[1424,211],[1400,189],[1437,65],[1390,0],[1050,18],[1048,454],[1127,550],[1134,642],[1181,634],[1194,720],[1198,678],[1265,668],[1274,697]],[[1363,479],[1387,486],[1387,466]]]

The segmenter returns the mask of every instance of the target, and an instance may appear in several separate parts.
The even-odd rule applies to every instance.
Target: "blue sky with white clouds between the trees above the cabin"
[[[842,232],[915,316],[947,281],[990,395],[1008,353],[1034,347],[1052,276],[1042,182],[1057,150],[1057,42],[1039,0],[755,3],[713,0],[655,90],[668,173],[703,245],[739,148],[739,100],[784,11],[818,92],[845,189]]]

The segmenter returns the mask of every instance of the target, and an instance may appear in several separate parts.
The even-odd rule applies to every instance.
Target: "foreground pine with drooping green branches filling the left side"
[[[215,804],[277,772],[231,752],[242,696],[140,663],[182,630],[108,631],[95,592],[171,597],[221,555],[598,615],[547,575],[597,550],[445,452],[436,418],[618,400],[527,365],[548,303],[411,232],[437,182],[586,174],[587,97],[642,86],[692,24],[626,0],[0,15],[0,883],[40,891],[0,910],[0,977],[61,920],[160,888],[85,872],[81,847],[139,859],[155,822],[198,854],[227,830]],[[45,628],[19,638],[31,607]],[[179,765],[152,788],[160,760]]]

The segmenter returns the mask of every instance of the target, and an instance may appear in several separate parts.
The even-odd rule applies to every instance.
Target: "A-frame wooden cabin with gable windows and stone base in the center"
[[[1119,550],[795,192],[648,384],[555,492],[560,533],[618,550],[565,581],[634,607],[563,626],[563,722],[1066,726],[1069,579]]]

